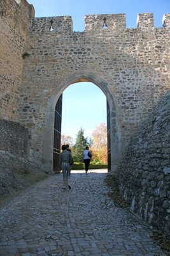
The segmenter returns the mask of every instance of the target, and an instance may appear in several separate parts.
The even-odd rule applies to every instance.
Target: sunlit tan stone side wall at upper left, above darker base
[[[18,121],[24,47],[34,8],[27,1],[0,3],[0,118]]]

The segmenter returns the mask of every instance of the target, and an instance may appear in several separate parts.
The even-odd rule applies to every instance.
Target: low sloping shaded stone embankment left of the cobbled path
[[[0,150],[0,163],[0,201],[48,177],[38,166],[8,151]]]

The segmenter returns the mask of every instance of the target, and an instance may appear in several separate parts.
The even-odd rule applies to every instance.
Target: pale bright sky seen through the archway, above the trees
[[[101,123],[106,123],[106,96],[93,83],[71,84],[62,93],[61,133],[73,138],[82,128],[85,137]]]

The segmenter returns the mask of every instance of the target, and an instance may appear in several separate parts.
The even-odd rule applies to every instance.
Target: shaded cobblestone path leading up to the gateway
[[[116,207],[106,173],[62,174],[38,182],[0,209],[0,255],[166,255],[131,212]]]

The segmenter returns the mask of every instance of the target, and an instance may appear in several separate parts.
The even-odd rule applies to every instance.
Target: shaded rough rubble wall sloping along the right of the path
[[[150,224],[170,230],[170,92],[132,138],[118,167],[120,191]]]

